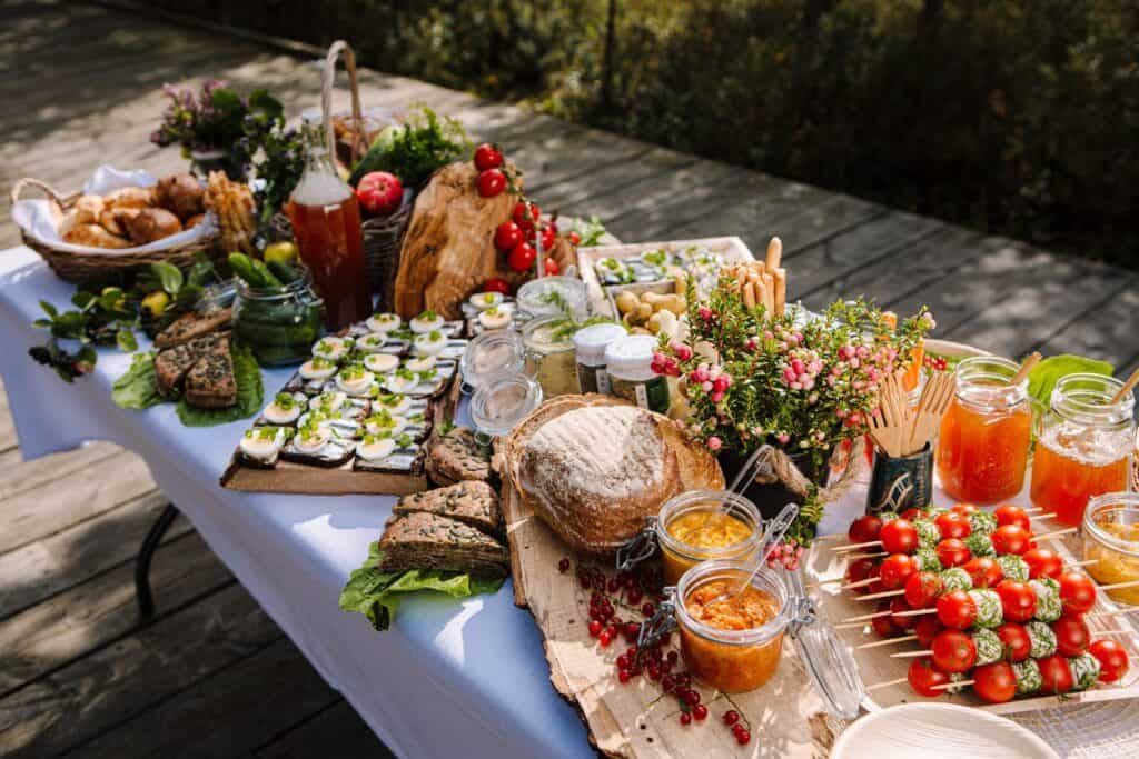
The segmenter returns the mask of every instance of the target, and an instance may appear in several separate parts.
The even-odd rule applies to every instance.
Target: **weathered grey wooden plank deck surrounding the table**
[[[292,115],[318,99],[304,59],[96,6],[3,2],[0,52],[5,187],[181,168],[148,142],[164,82],[268,86]],[[809,305],[926,303],[947,339],[1139,363],[1132,273],[423,82],[366,73],[363,100],[459,116],[508,147],[543,208],[597,214],[626,241],[739,234],[762,250],[779,234]],[[5,218],[0,248],[17,241]],[[140,459],[93,444],[22,463],[0,397],[0,754],[388,756],[185,520],[155,559],[157,619],[136,629],[132,559],[164,503]]]

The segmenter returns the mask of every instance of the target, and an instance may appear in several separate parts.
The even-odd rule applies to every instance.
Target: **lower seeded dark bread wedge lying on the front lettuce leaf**
[[[417,512],[395,514],[379,538],[379,570],[442,569],[506,577],[510,562],[505,545],[454,519]]]

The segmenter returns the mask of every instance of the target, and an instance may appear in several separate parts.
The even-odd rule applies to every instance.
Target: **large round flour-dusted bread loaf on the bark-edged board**
[[[722,488],[703,446],[666,416],[605,396],[562,396],[511,432],[506,465],[523,502],[571,548],[609,555],[665,501]]]

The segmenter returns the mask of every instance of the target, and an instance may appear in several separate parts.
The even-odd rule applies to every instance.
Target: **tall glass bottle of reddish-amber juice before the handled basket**
[[[341,330],[371,315],[360,206],[328,151],[319,114],[305,114],[304,173],[285,213],[313,287],[325,300],[325,327]]]

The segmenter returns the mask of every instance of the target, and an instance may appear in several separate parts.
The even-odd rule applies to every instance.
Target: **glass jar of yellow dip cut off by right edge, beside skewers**
[[[1112,585],[1139,579],[1139,493],[1107,493],[1088,501],[1083,512],[1087,571]],[[1113,601],[1139,605],[1139,587],[1107,591]]]

